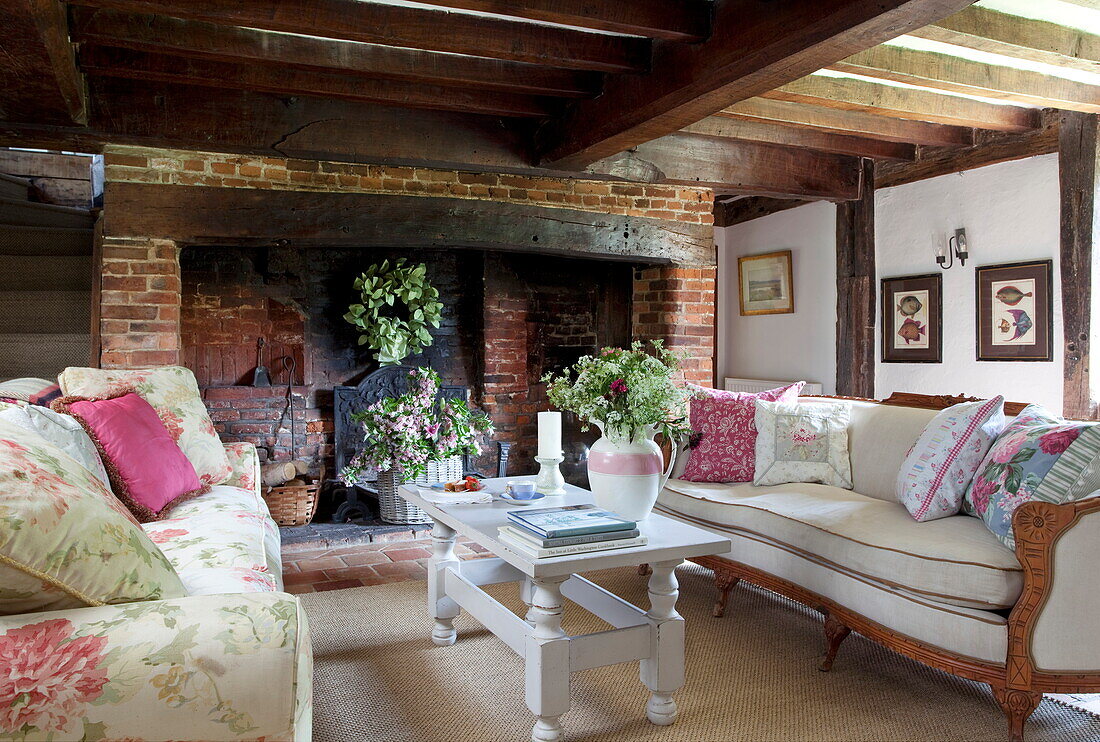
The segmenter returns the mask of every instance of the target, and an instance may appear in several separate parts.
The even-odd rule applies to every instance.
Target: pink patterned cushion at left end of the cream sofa
[[[695,387],[690,422],[695,447],[682,479],[688,481],[752,481],[756,469],[756,402],[793,402],[805,381],[749,394]]]

